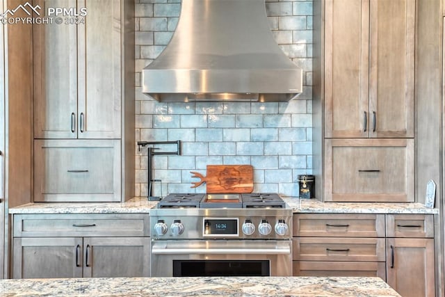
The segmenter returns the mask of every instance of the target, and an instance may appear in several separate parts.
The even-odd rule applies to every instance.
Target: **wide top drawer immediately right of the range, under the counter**
[[[293,236],[385,237],[384,214],[296,214]]]

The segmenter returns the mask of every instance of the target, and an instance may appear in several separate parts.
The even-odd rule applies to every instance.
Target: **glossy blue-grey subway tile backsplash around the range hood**
[[[242,1],[242,0],[239,0]],[[266,0],[275,41],[302,67],[303,93],[291,102],[159,103],[142,94],[140,72],[165,48],[180,0],[136,2],[136,139],[181,140],[181,156],[155,155],[154,195],[205,192],[190,171],[210,164],[251,164],[254,191],[298,195],[300,174],[312,173],[312,1]],[[160,146],[161,150],[172,147]],[[136,150],[136,195],[147,195],[147,148]]]

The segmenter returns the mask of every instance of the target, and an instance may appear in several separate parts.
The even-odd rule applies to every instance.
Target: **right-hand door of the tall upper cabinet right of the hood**
[[[414,137],[415,0],[371,0],[371,137]]]

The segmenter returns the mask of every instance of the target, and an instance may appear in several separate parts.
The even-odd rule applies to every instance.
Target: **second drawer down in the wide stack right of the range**
[[[300,261],[385,261],[385,239],[297,238],[293,239],[293,259]]]

